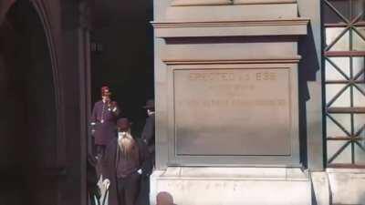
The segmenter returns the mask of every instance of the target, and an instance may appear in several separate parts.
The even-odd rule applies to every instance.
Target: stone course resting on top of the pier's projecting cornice
[[[185,1],[185,0],[184,0]],[[194,0],[196,2],[197,0]],[[182,3],[183,1],[180,1]],[[200,4],[211,4],[212,0],[200,0]],[[217,1],[214,1],[215,4]],[[298,16],[297,3],[276,4],[275,1],[230,1],[230,5],[189,5],[169,6],[165,15],[157,16],[158,21],[227,21],[227,20],[248,20],[248,19],[288,19]],[[193,1],[186,1],[193,4]],[[186,4],[185,3],[185,4]],[[254,4],[255,3],[255,4]],[[172,3],[174,4],[174,3]],[[176,5],[176,4],[175,4]]]

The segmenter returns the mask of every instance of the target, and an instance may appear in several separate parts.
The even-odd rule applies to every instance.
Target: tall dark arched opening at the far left
[[[0,26],[0,200],[7,205],[57,204],[57,109],[42,21],[18,1]]]

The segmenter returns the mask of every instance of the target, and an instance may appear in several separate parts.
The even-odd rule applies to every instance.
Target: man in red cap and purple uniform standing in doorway
[[[95,103],[91,115],[91,126],[98,159],[104,154],[110,140],[116,137],[116,120],[120,114],[117,102],[110,100],[109,87],[101,87],[101,100]]]

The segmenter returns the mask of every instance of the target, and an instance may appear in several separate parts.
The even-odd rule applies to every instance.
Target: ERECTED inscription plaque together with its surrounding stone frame
[[[169,164],[300,166],[297,59],[166,63]]]

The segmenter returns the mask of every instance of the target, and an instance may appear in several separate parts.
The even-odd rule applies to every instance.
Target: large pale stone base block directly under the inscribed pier
[[[151,175],[151,204],[167,192],[178,205],[309,205],[308,175],[286,168],[169,168]]]

